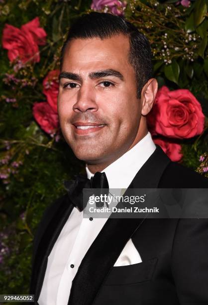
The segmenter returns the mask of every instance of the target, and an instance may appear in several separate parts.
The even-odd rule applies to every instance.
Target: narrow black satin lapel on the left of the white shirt
[[[63,228],[69,215],[71,214],[73,205],[70,202],[68,194],[64,200],[59,203],[58,209],[54,211],[54,215],[49,222],[44,234],[39,242],[36,257],[34,260],[32,275],[32,291],[35,294],[35,301],[38,300],[42,288],[45,271],[47,267],[47,258]]]

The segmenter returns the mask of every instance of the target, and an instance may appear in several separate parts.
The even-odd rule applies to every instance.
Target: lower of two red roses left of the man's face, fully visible
[[[47,102],[34,103],[32,112],[41,129],[53,136],[59,127],[58,114]]]

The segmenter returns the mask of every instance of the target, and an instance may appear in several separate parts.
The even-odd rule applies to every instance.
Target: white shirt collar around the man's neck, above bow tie
[[[150,132],[148,132],[134,147],[105,167],[102,172],[105,172],[106,174],[109,188],[127,188],[137,171],[147,161],[155,149],[156,146]],[[89,179],[94,176],[87,165],[86,171]]]

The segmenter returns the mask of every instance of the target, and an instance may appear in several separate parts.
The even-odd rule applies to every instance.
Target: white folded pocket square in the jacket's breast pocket
[[[114,267],[138,264],[141,262],[142,260],[138,251],[132,243],[132,240],[129,239],[117,261],[115,262]]]

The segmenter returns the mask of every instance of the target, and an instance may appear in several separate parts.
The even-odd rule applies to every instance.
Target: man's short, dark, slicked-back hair
[[[102,12],[91,12],[79,17],[70,27],[67,39],[62,47],[61,67],[66,45],[72,39],[94,37],[106,39],[117,34],[129,37],[128,61],[135,70],[137,97],[140,98],[143,86],[152,77],[150,43],[145,35],[123,17]]]

